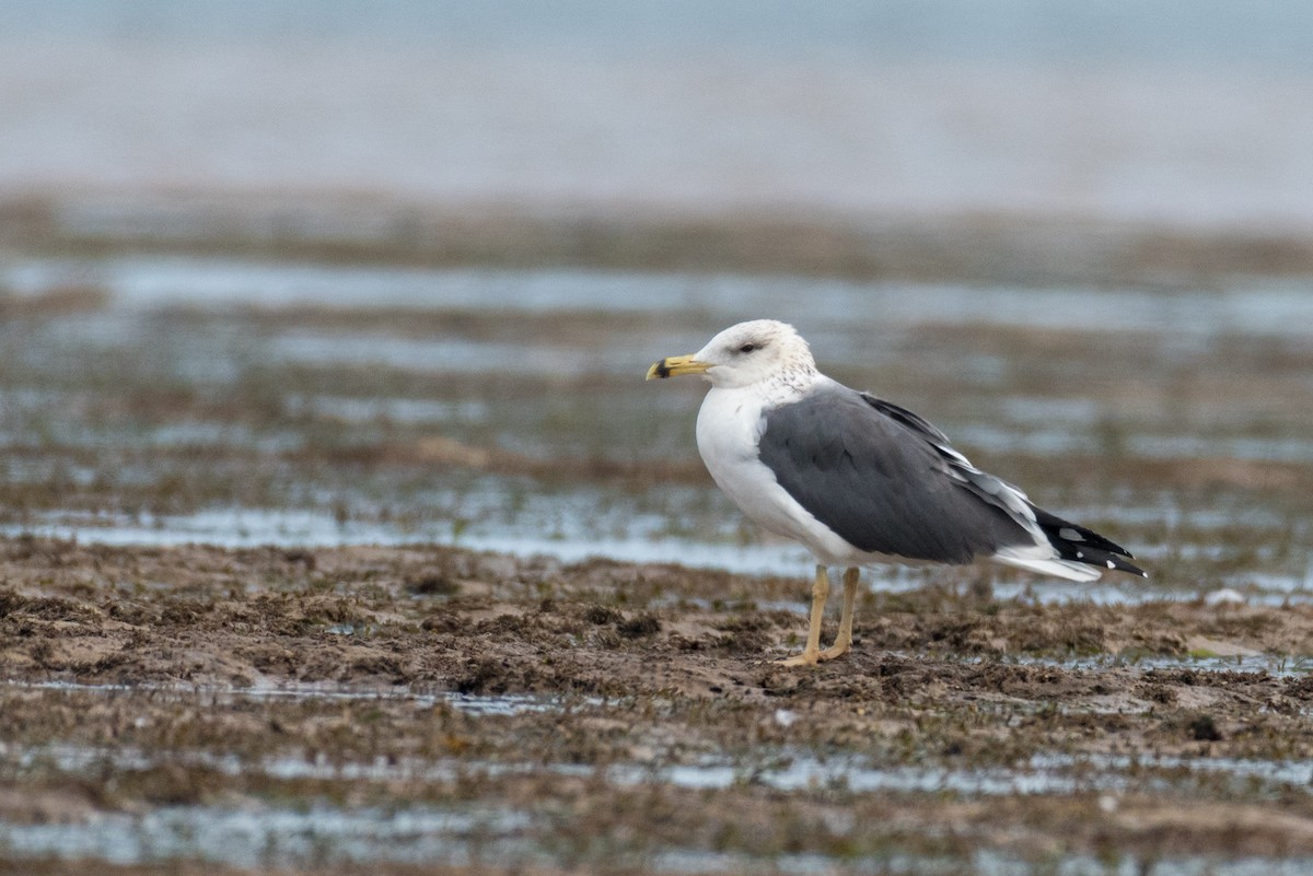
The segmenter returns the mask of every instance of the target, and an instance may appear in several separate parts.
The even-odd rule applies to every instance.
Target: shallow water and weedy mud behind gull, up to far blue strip
[[[924,413],[1053,510],[1112,527],[1154,573],[1003,580],[998,595],[1226,589],[1279,603],[1310,590],[1297,489],[1117,475],[1313,464],[1313,296],[1295,283],[1184,294],[0,258],[0,287],[21,298],[70,283],[106,298],[0,328],[11,535],[437,542],[805,578],[805,552],[746,525],[700,473],[701,387],[642,382],[650,361],[768,312],[804,327],[823,368]],[[1088,328],[1069,334],[1075,312]],[[1112,481],[1083,479],[1091,462]],[[1254,471],[1241,475],[1297,477]]]

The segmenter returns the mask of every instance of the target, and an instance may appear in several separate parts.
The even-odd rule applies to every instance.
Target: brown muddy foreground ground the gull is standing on
[[[848,658],[781,669],[771,661],[804,633],[802,581],[435,547],[14,539],[0,551],[0,820],[11,824],[286,799],[533,812],[528,839],[550,852],[494,856],[488,872],[629,872],[668,847],[764,862],[813,854],[835,866],[889,850],[957,860],[986,848],[1024,862],[1313,855],[1306,780],[1192,768],[1313,754],[1304,606],[1041,606],[994,599],[983,573],[945,570],[911,593],[865,594]],[[783,601],[797,610],[763,607]],[[1255,654],[1270,654],[1266,667],[1254,669]],[[1228,656],[1246,669],[1225,669]],[[248,695],[269,690],[324,695]],[[523,702],[548,707],[478,715],[444,699],[454,694],[530,695]],[[91,772],[24,757],[53,746],[150,757]],[[1078,765],[1075,789],[781,789],[752,779],[780,758],[1024,772],[1036,754]],[[285,779],[217,770],[200,755],[470,771]],[[621,765],[656,776],[709,759],[742,780],[604,778]],[[559,765],[584,768],[549,768]],[[218,867],[183,863],[167,872]],[[0,872],[75,869],[17,860]]]

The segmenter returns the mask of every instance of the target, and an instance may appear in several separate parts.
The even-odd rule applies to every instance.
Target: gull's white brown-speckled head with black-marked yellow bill
[[[731,325],[693,355],[662,359],[647,378],[701,374],[712,386],[726,389],[762,380],[807,383],[815,375],[815,361],[807,342],[788,323],[752,320]]]

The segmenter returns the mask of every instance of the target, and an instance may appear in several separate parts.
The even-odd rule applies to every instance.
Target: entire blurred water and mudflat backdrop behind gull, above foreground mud
[[[805,573],[641,380],[772,316],[1280,599],[1310,277],[1293,0],[0,0],[11,532]]]

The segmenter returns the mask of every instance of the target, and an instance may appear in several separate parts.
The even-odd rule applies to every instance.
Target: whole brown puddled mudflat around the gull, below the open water
[[[1048,219],[0,205],[0,873],[1313,869],[1308,236]],[[773,665],[641,379],[765,315],[1152,577]]]

